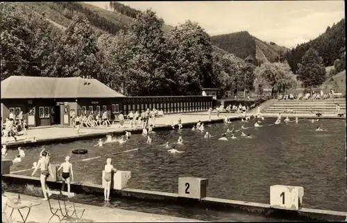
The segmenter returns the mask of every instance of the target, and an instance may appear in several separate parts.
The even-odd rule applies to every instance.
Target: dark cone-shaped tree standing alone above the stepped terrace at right
[[[326,79],[323,59],[313,48],[310,48],[305,53],[302,62],[298,67],[299,69],[296,74],[298,74],[298,79],[303,81],[305,88],[317,87]]]

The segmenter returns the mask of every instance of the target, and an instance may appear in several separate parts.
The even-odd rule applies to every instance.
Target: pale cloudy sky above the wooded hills
[[[108,1],[89,1],[105,8]],[[248,31],[260,40],[296,47],[324,33],[344,18],[344,1],[120,1],[131,8],[151,8],[165,24],[188,19],[210,35]]]

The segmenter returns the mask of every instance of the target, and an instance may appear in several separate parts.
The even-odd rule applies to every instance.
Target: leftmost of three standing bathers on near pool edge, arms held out
[[[46,184],[46,180],[49,177],[49,175],[52,176],[53,179],[53,172],[52,172],[52,167],[51,163],[49,162],[49,154],[46,151],[42,151],[42,158],[38,160],[37,165],[35,167],[35,170],[31,176],[34,176],[35,172],[37,169],[40,167],[41,169],[41,174],[40,174],[40,181],[41,181],[41,187],[42,187],[42,192],[44,194],[44,201],[48,200],[47,198],[47,193],[49,197],[51,197],[51,191],[49,190],[48,185]]]

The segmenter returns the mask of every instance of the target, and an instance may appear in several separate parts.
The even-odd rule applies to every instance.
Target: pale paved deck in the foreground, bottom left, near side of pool
[[[16,194],[6,192],[6,196],[10,198],[17,198]],[[51,217],[48,201],[41,201],[40,197],[33,197],[28,195],[21,195],[21,200],[25,202],[41,202],[40,205],[33,206],[31,213],[26,222],[48,222]],[[58,206],[58,201],[51,199],[51,204]],[[172,217],[169,215],[157,215],[151,213],[142,213],[133,210],[123,210],[120,208],[109,208],[107,206],[91,206],[87,204],[75,204],[76,208],[85,209],[85,213],[81,222],[203,222],[200,220],[192,220],[182,217]],[[6,213],[10,214],[12,208],[8,208]],[[24,217],[28,208],[21,209]],[[16,220],[22,221],[19,213],[15,210],[12,214]],[[57,217],[53,217],[52,222],[58,222]]]

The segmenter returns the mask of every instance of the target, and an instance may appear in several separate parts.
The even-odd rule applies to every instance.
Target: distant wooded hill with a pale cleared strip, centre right
[[[233,53],[239,58],[245,59],[251,56],[260,63],[278,61],[288,50],[274,42],[267,43],[255,38],[247,31],[214,35],[211,40],[217,47]]]

